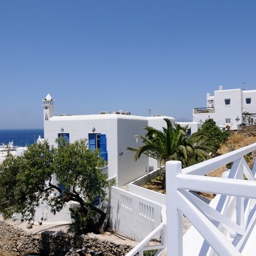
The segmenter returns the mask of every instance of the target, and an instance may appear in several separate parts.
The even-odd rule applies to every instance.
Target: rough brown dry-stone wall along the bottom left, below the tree
[[[69,249],[105,251],[104,255],[122,256],[132,249],[130,245],[116,244],[97,235],[84,235],[47,230],[40,234],[29,234],[0,221],[0,255],[18,256],[28,253],[40,255],[65,255]]]

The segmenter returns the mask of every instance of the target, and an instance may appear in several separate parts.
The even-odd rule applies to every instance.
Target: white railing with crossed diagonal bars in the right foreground
[[[256,164],[250,170],[244,156],[255,150],[256,143],[183,170],[179,161],[167,162],[167,255],[249,255],[256,238]],[[204,176],[230,162],[228,178]],[[190,190],[217,196],[207,205]],[[183,214],[193,225],[184,245]]]

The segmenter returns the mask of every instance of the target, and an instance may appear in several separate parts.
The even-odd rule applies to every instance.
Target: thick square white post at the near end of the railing
[[[166,163],[167,255],[183,255],[182,213],[177,202],[177,175],[181,174],[181,162]]]

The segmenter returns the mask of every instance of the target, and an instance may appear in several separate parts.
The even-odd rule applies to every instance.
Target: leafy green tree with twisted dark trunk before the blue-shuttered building
[[[103,201],[106,188],[113,185],[101,171],[106,163],[98,151],[88,149],[85,140],[68,143],[62,138],[57,142],[58,148],[44,142],[29,146],[23,156],[7,155],[0,165],[0,212],[6,218],[22,213],[32,226],[40,203],[56,213],[66,202],[76,201],[81,216],[90,223],[88,231],[99,232],[106,214],[94,200],[97,196]]]

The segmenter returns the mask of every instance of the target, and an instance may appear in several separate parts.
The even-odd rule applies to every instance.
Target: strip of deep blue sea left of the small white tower
[[[25,147],[36,143],[39,135],[44,137],[44,129],[6,129],[0,130],[0,144],[13,142],[14,146]]]

